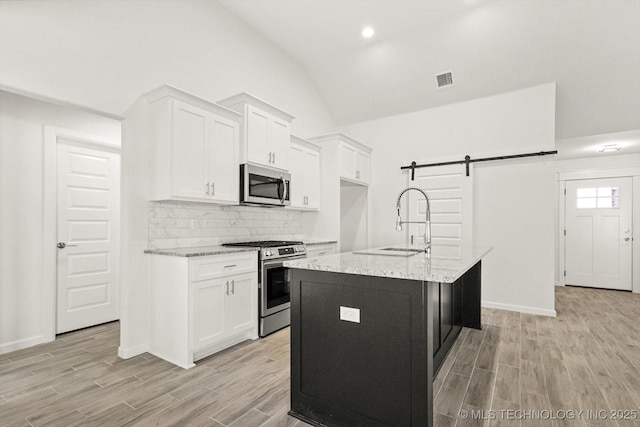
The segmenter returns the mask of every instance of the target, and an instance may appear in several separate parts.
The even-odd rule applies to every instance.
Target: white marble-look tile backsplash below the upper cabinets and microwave
[[[149,249],[302,239],[302,212],[282,208],[149,202]]]

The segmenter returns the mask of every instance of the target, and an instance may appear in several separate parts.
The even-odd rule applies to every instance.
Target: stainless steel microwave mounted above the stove
[[[256,165],[240,165],[240,204],[289,206],[291,175]]]

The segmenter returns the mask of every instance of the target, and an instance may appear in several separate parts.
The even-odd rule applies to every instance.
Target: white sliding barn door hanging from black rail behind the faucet
[[[437,166],[415,170],[415,180],[407,186],[417,187],[429,196],[431,210],[431,242],[433,255],[440,258],[460,258],[463,244],[472,244],[473,234],[473,173],[466,176],[461,165]],[[408,206],[408,220],[422,222],[427,203],[417,191],[409,191],[404,209]],[[407,215],[403,216],[407,221]],[[409,224],[407,241],[424,244],[423,224]]]

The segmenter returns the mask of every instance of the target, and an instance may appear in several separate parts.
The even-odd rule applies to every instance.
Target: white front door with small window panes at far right
[[[632,178],[567,181],[567,285],[631,290]]]

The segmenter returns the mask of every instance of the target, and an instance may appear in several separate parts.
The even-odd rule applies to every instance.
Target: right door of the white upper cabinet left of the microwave
[[[209,194],[216,201],[238,202],[238,129],[238,124],[233,120],[212,115]]]

